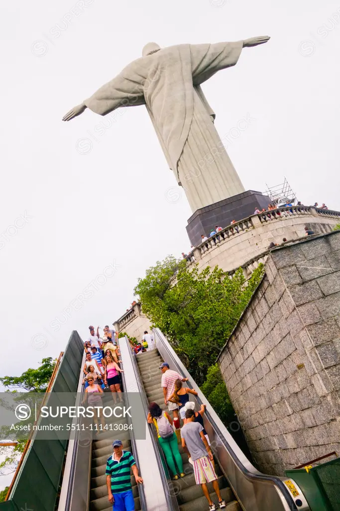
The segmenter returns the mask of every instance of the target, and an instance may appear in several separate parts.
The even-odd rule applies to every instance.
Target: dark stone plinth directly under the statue
[[[220,200],[214,204],[201,207],[188,220],[187,233],[195,247],[201,243],[201,234],[209,236],[215,225],[226,227],[231,220],[242,220],[254,214],[255,208],[267,210],[269,197],[260,192],[248,190]]]

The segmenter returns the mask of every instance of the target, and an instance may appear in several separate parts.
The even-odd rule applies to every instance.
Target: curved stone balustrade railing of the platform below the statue
[[[224,229],[220,230],[215,235],[208,238],[198,245],[192,252],[187,256],[189,263],[195,263],[202,258],[207,251],[215,248],[218,244],[227,241],[234,236],[241,235],[248,230],[255,229],[259,224],[267,222],[281,221],[288,217],[297,216],[309,216],[309,217],[327,217],[327,218],[338,218],[340,220],[340,212],[325,210],[314,206],[284,206],[278,207],[275,210],[269,210],[251,215],[248,218],[239,220],[236,223],[227,225]]]

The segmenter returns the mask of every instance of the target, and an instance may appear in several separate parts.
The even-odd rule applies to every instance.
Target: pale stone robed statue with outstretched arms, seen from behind
[[[70,121],[86,108],[107,115],[119,107],[145,105],[168,165],[195,212],[244,192],[200,85],[221,69],[235,65],[243,48],[268,40],[264,36],[163,49],[148,43],[142,58],[72,108],[63,121]]]

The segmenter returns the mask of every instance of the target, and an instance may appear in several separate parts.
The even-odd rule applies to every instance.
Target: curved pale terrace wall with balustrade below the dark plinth
[[[195,248],[194,261],[200,270],[218,265],[224,271],[231,271],[265,252],[271,242],[280,244],[282,238],[301,238],[305,236],[305,227],[316,234],[329,233],[338,223],[340,212],[337,211],[310,206],[280,207],[228,225]]]

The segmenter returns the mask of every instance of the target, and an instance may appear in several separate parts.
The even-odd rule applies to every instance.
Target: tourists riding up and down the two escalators
[[[117,332],[110,329],[108,325],[103,328],[102,337],[99,335],[99,327],[96,333],[93,326],[89,327],[89,331],[90,335],[84,342],[86,352],[83,367],[84,402],[87,400],[89,404],[98,404],[101,401],[100,394],[110,390],[114,403],[117,399],[122,401],[120,373],[123,373],[123,370],[120,367]],[[154,337],[147,331],[144,332],[140,342],[133,343],[130,339],[129,342],[132,352],[138,357],[155,349]],[[203,425],[205,405],[195,411],[195,403],[190,401],[190,396],[197,396],[197,392],[183,385],[188,378],[170,369],[167,362],[163,362],[159,369],[162,373],[160,386],[163,388],[164,403],[168,411],[163,411],[158,403],[150,403],[147,422],[155,427],[171,477],[177,480],[186,476],[178,448],[178,442],[180,442],[184,452],[188,454],[196,484],[201,485],[210,511],[215,511],[217,507],[208,491],[207,483],[209,482],[212,483],[217,495],[219,508],[225,508],[226,503],[219,490],[210,440]],[[103,416],[99,418],[103,428],[104,418]],[[94,420],[98,421],[96,417]],[[182,427],[180,427],[180,420]],[[98,422],[96,424],[98,426]],[[142,484],[143,479],[139,475],[132,453],[123,450],[122,441],[114,440],[112,447],[113,454],[106,465],[109,502],[113,504],[113,511],[134,511],[135,502],[130,471],[132,470],[138,484]]]

